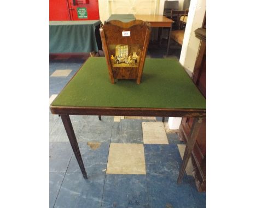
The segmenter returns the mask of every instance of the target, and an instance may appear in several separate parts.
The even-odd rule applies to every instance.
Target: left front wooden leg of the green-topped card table
[[[67,136],[68,136],[69,142],[72,146],[75,158],[77,158],[77,162],[79,164],[80,170],[82,171],[84,178],[88,179],[85,168],[84,168],[82,156],[80,154],[79,146],[77,143],[77,138],[75,138],[75,133],[74,133],[73,126],[72,126],[71,120],[69,118],[69,115],[60,115],[60,116],[61,116],[63,125],[65,127],[65,130],[67,132]]]

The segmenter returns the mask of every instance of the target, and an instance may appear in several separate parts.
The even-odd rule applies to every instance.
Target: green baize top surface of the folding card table
[[[176,59],[146,58],[141,84],[112,84],[105,58],[90,57],[51,105],[206,109],[206,100]]]

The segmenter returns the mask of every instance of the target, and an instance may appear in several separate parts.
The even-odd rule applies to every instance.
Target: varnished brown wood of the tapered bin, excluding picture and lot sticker
[[[130,31],[130,36],[123,36],[124,30]],[[103,44],[103,50],[106,54],[106,60],[109,70],[109,77],[111,83],[114,79],[137,79],[137,84],[141,81],[144,62],[146,58],[149,37],[150,37],[150,23],[141,20],[134,20],[131,22],[121,22],[112,20],[105,22],[101,26],[100,33]],[[139,54],[138,66],[113,66],[110,60],[110,45],[137,45],[141,49]]]

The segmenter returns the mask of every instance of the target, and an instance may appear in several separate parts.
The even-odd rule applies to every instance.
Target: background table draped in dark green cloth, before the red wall
[[[102,50],[100,20],[50,21],[50,53]]]

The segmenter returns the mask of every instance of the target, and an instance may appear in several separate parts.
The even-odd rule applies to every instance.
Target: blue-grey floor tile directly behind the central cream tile
[[[111,143],[143,143],[142,122],[122,119],[113,124]]]

